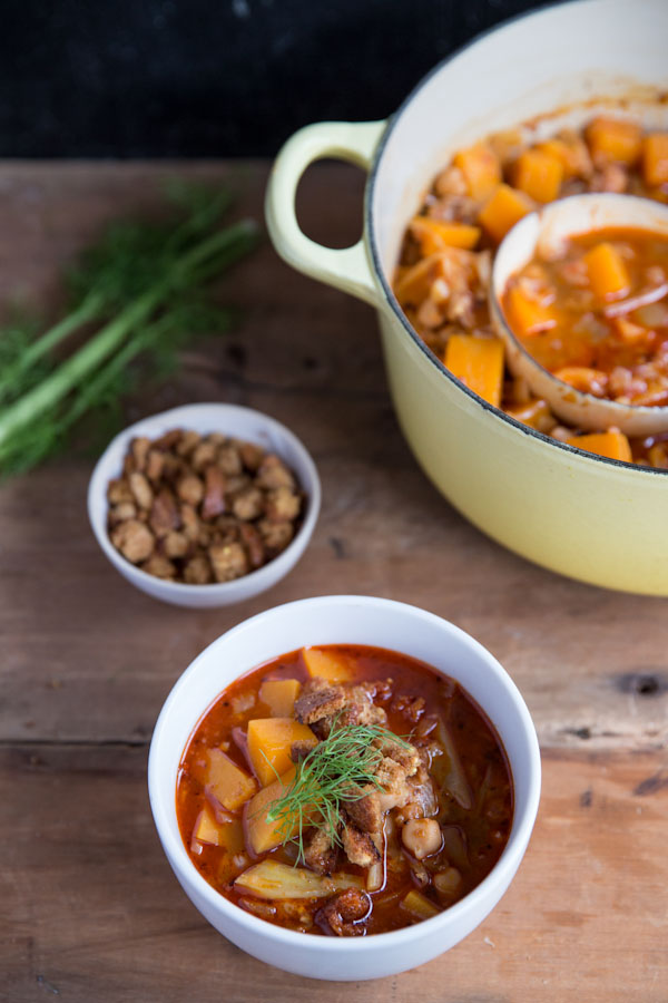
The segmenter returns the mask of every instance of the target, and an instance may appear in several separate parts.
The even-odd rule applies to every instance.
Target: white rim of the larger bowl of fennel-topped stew
[[[480,882],[479,885],[472,888],[471,892],[469,892],[463,898],[461,898],[458,903],[450,906],[449,908],[444,909],[442,913],[440,913],[439,916],[421,921],[410,926],[401,927],[400,929],[390,931],[387,933],[373,934],[369,937],[340,938],[313,936],[299,933],[298,931],[291,931],[285,929],[281,926],[276,926],[275,924],[269,923],[266,919],[262,919],[258,916],[254,916],[253,914],[245,912],[245,909],[243,909],[240,906],[230,902],[224,895],[217,892],[199,874],[199,871],[190,860],[180,837],[180,832],[178,832],[177,820],[177,832],[175,834],[171,830],[170,819],[171,817],[176,819],[176,787],[174,787],[174,798],[170,801],[169,806],[164,802],[157,791],[159,790],[159,775],[164,769],[164,767],[161,766],[161,760],[159,760],[158,757],[160,756],[160,744],[165,741],[164,732],[168,727],[169,715],[170,713],[173,713],[175,705],[177,705],[178,703],[181,690],[185,686],[191,685],[190,679],[196,675],[198,665],[200,665],[200,663],[205,659],[208,660],[210,658],[213,649],[223,644],[223,642],[230,636],[253,630],[267,616],[281,615],[283,611],[295,608],[298,606],[301,606],[302,608],[304,608],[305,606],[308,608],[345,606],[350,603],[357,604],[362,607],[375,606],[377,608],[380,606],[386,610],[387,614],[401,613],[403,615],[414,616],[416,620],[422,622],[429,621],[432,624],[438,624],[440,630],[445,631],[446,633],[451,633],[452,635],[458,637],[461,642],[463,642],[464,645],[469,646],[479,658],[481,658],[482,661],[487,663],[489,670],[498,678],[498,680],[507,690],[509,700],[513,704],[518,713],[529,748],[529,778],[527,782],[524,811],[521,816],[517,814],[515,796],[515,810],[513,812],[512,826],[508,843],[505,844],[501,856],[499,857],[490,873],[482,879],[482,882]],[[433,665],[431,668],[436,672],[439,671]],[[252,671],[252,669],[246,669],[242,674],[245,674],[248,671]],[[238,675],[235,675],[235,679],[237,678]],[[234,682],[234,680],[230,680],[227,685],[230,685],[232,682]],[[220,692],[223,692],[225,686],[220,690]],[[202,717],[206,713],[210,704],[212,701],[209,701],[207,705],[202,709],[199,717],[191,726],[189,736],[193,733],[193,731],[197,727],[197,723],[202,720]],[[497,726],[493,721],[492,715],[484,708],[481,709],[488,715],[490,722],[497,730]],[[183,750],[180,754],[183,754]],[[508,758],[510,762],[510,757]],[[511,776],[513,779],[513,790],[515,790],[517,781],[511,762],[510,767]],[[485,908],[488,893],[493,894],[494,886],[500,885],[501,895],[499,896],[499,898],[497,898],[495,902],[498,902],[502,897],[509,884],[512,882],[512,878],[514,877],[514,874],[522,860],[522,857],[529,844],[540,802],[541,757],[536,727],[533,724],[533,720],[531,718],[531,714],[529,713],[524,699],[520,693],[520,690],[518,689],[510,674],[505,671],[505,669],[503,669],[498,659],[495,659],[494,655],[490,651],[488,651],[487,647],[484,647],[484,645],[477,641],[475,637],[473,637],[466,631],[455,626],[455,624],[444,620],[442,616],[439,616],[435,613],[431,613],[426,610],[421,608],[420,606],[415,606],[410,603],[397,602],[396,600],[389,600],[381,596],[352,594],[323,595],[312,596],[310,598],[303,600],[294,600],[288,603],[282,603],[278,606],[272,606],[261,613],[256,613],[254,616],[242,621],[240,623],[230,627],[230,630],[226,631],[224,634],[220,634],[210,644],[208,644],[193,660],[193,662],[190,662],[188,668],[183,672],[183,674],[174,684],[173,689],[167,695],[167,699],[165,700],[165,703],[163,704],[163,708],[160,709],[160,713],[158,714],[148,754],[148,789],[155,826],[158,830],[158,836],[160,838],[160,843],[163,844],[165,854],[167,855],[167,858],[171,864],[177,878],[181,884],[185,883],[185,885],[190,886],[198,894],[198,896],[204,898],[206,905],[213,912],[224,915],[234,925],[240,926],[249,933],[259,934],[275,943],[284,944],[286,947],[299,947],[301,950],[307,951],[317,950],[318,952],[325,952],[327,954],[336,955],[347,954],[351,951],[355,953],[365,951],[369,952],[375,947],[401,948],[409,946],[410,944],[421,938],[425,923],[430,924],[430,933],[435,932],[436,924],[445,929],[450,926],[456,926],[460,922],[465,923],[466,917],[471,913],[479,913],[481,906],[483,916],[487,916],[487,914],[490,912],[490,908]],[[494,905],[495,903],[492,905],[492,908]],[[479,924],[477,923],[475,925]]]

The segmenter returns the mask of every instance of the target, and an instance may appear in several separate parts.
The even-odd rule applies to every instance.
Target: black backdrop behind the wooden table
[[[3,0],[0,156],[271,156],[531,0]]]

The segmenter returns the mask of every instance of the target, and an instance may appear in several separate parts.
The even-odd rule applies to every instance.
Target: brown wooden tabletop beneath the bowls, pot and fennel
[[[159,202],[178,173],[234,176],[259,217],[265,164],[0,166],[0,294],[45,308],[104,221]],[[321,165],[303,185],[310,232],[358,230],[361,176]],[[372,311],[285,266],[266,244],[225,286],[234,335],[190,352],[141,412],[236,401],[291,426],[324,504],[289,577],[232,610],[178,611],[131,588],[86,517],[91,462],[0,489],[0,1000],[68,1003],[590,1003],[668,1000],[668,606],[528,564],[455,513],[394,420]],[[510,892],[462,944],[354,986],[246,956],[190,905],[153,826],[146,759],[179,673],[232,624],[308,595],[424,606],[504,664],[538,727],[543,795]]]

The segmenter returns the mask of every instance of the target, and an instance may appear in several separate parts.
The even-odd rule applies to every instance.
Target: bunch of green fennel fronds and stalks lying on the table
[[[232,312],[213,301],[209,284],[256,245],[256,224],[219,228],[227,191],[173,185],[170,195],[177,220],[112,224],[81,255],[57,324],[40,337],[19,320],[0,330],[1,474],[61,450],[94,413],[118,421],[138,357],[154,373],[169,372],[190,337],[229,329]],[[77,345],[65,354],[70,335]]]

